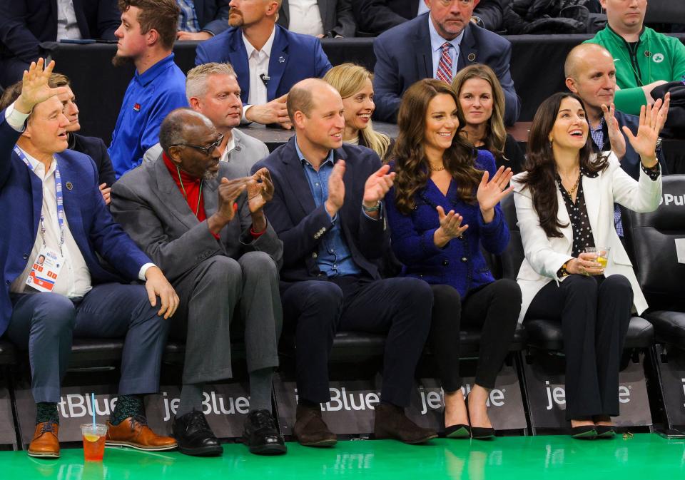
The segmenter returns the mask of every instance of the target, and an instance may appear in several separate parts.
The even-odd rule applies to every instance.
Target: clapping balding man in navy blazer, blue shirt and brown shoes
[[[405,416],[414,371],[430,329],[432,292],[417,278],[381,279],[390,247],[382,198],[394,173],[369,148],[342,143],[340,93],[300,81],[288,94],[295,136],[253,166],[266,167],[274,197],[265,210],[283,240],[283,321],[295,329],[300,444],[330,446],[321,418],[328,402],[328,355],[337,330],[387,334],[376,438],[420,444],[435,436]]]

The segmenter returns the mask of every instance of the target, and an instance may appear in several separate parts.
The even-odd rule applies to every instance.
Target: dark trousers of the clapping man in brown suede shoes
[[[298,397],[328,402],[328,357],[335,332],[387,333],[382,401],[407,407],[430,330],[433,295],[415,278],[295,282],[281,292],[285,327],[295,326]]]

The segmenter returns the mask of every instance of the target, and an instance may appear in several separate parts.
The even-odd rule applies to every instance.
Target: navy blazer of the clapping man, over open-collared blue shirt
[[[367,178],[380,168],[380,158],[373,150],[343,143],[334,150],[334,161],[345,160],[345,204],[338,212],[342,233],[350,248],[352,260],[362,272],[374,280],[380,278],[378,265],[388,236],[385,220],[372,220],[364,215],[362,198]],[[281,280],[327,280],[319,270],[316,257],[322,235],[333,224],[325,206],[315,206],[302,162],[295,150],[295,136],[288,143],[276,148],[267,158],[258,161],[253,173],[262,167],[269,169],[273,179],[273,200],[265,206],[266,216],[283,240],[283,267]]]

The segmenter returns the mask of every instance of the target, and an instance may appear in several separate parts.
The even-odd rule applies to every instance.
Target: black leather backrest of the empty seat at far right
[[[654,212],[624,211],[633,266],[652,308],[685,305],[685,264],[676,254],[676,239],[685,239],[685,175],[666,175],[663,182]]]

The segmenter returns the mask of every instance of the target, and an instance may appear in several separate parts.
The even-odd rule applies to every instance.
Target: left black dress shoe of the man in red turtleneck
[[[217,456],[223,448],[210,429],[202,412],[192,412],[173,419],[171,432],[178,442],[178,450],[186,455]]]

